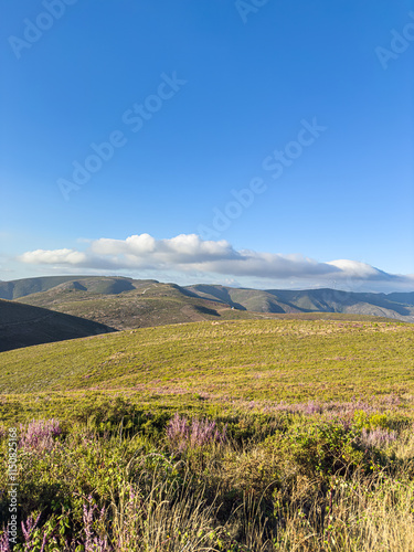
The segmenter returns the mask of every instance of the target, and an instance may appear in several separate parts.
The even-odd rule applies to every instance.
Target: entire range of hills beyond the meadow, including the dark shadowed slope
[[[52,276],[0,282],[0,351],[202,320],[375,316],[414,322],[414,291],[181,287],[119,276]]]

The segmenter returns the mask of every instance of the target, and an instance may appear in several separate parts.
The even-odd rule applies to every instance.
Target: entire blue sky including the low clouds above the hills
[[[414,1],[2,11],[0,279],[414,289]]]

